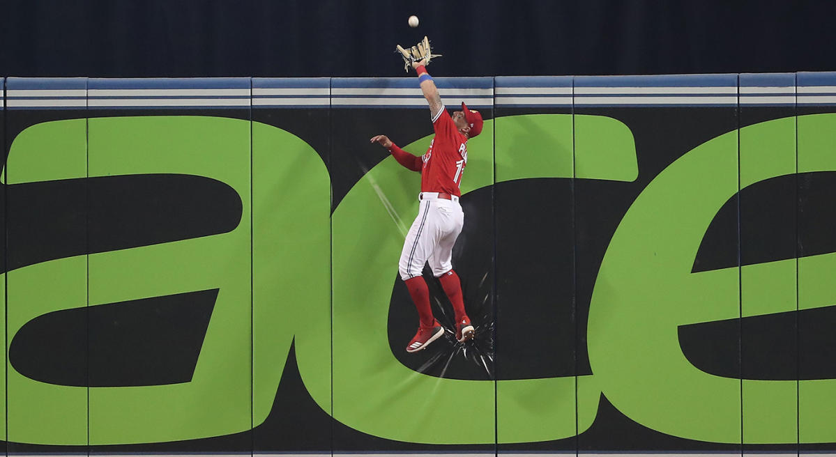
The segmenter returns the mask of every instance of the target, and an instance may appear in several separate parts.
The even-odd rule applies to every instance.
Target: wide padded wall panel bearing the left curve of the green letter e
[[[715,217],[737,193],[737,75],[576,77],[574,118],[578,360],[601,392],[579,453],[739,452],[739,381],[691,360],[714,335],[683,337],[739,316],[737,218]]]

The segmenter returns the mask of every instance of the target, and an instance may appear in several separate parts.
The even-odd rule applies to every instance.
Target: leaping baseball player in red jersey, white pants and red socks
[[[482,132],[482,114],[467,109],[464,103],[461,104],[461,111],[454,112],[452,117],[447,114],[436,84],[426,72],[425,64],[426,59],[411,63],[418,74],[421,92],[430,104],[433,129],[436,132],[430,149],[418,157],[401,150],[385,135],[377,135],[370,140],[389,150],[400,165],[421,172],[421,193],[418,194],[420,209],[406,234],[398,263],[400,278],[409,289],[421,317],[415,338],[406,346],[408,353],[421,351],[444,334],[444,328],[432,315],[430,292],[424,277],[421,277],[426,262],[430,262],[433,276],[441,282],[456,312],[456,339],[464,343],[473,338],[474,334],[461,298],[461,282],[450,261],[453,245],[464,223],[464,213],[459,205],[459,185],[467,165],[466,144],[469,138]]]

